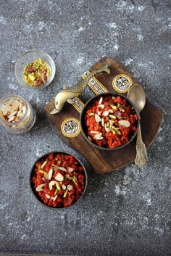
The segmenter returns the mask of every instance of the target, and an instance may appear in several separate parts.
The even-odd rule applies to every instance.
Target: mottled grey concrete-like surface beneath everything
[[[1,255],[171,255],[170,8],[171,1],[159,0],[1,0],[1,97],[24,96],[37,116],[20,136],[0,128]],[[42,91],[22,88],[14,77],[16,59],[29,49],[46,51],[57,65]],[[45,104],[104,55],[124,63],[163,111],[143,170],[130,164],[96,176],[47,123]],[[36,202],[28,180],[36,158],[59,149],[86,164],[89,184],[78,205],[54,211]]]

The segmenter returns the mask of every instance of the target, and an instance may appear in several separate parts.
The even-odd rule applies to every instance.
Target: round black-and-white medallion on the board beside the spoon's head
[[[130,89],[130,86],[132,85],[133,85],[132,79],[125,74],[116,75],[112,80],[112,86],[114,90],[122,94],[128,92]]]

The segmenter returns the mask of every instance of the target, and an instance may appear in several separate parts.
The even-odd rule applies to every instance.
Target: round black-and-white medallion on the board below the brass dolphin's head
[[[80,133],[80,122],[74,117],[65,119],[61,125],[61,131],[68,138],[77,137]]]

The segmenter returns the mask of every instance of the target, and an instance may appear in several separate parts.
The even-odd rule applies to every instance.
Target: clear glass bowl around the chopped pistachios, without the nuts
[[[50,68],[50,77],[48,78],[47,82],[42,84],[41,86],[30,86],[24,78],[23,71],[25,69],[25,65],[27,65],[30,62],[33,62],[34,59],[41,58],[43,59]],[[17,78],[18,83],[20,83],[21,86],[29,89],[42,89],[45,88],[46,86],[49,86],[49,84],[52,82],[54,79],[54,75],[56,72],[56,67],[54,64],[54,60],[51,59],[49,54],[46,54],[46,52],[40,51],[40,50],[33,50],[33,51],[28,51],[25,54],[23,54],[21,57],[17,59],[17,62],[14,67],[14,73]]]

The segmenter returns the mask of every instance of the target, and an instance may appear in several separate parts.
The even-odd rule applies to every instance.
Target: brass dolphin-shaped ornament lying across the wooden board
[[[67,86],[64,85],[63,90],[60,91],[57,96],[54,98],[54,110],[52,110],[50,113],[51,115],[57,114],[62,110],[62,107],[64,106],[65,102],[68,102],[70,104],[74,104],[74,101],[72,100],[76,96],[78,96],[83,89],[87,86],[88,81],[96,74],[101,72],[107,72],[110,73],[110,70],[108,68],[107,62],[105,62],[99,69],[91,71],[85,79],[82,79],[79,83],[77,83],[75,86]]]

